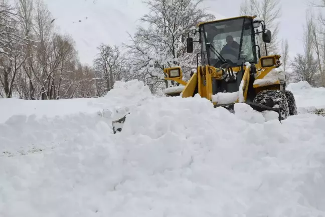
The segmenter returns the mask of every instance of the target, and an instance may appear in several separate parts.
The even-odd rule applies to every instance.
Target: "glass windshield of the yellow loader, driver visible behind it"
[[[204,24],[201,27],[202,63],[220,67],[256,63],[252,20],[239,18]],[[219,55],[220,54],[220,55]]]

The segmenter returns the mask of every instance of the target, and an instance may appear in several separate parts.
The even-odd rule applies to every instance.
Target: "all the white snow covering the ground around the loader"
[[[324,89],[305,87],[288,87],[298,107],[324,105]],[[0,216],[325,216],[322,116],[280,124],[137,81],[104,98],[0,108]]]

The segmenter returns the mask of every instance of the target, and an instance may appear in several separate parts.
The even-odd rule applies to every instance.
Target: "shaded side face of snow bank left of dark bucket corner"
[[[99,136],[98,133],[102,137],[111,132],[110,125],[111,120],[100,112],[41,118],[37,118],[37,115],[14,115],[5,123],[0,123],[0,158],[46,153],[62,145],[74,144],[79,139],[91,145]],[[71,148],[77,147],[73,145]]]

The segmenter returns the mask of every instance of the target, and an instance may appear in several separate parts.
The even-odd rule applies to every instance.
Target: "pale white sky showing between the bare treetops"
[[[71,34],[82,63],[92,64],[100,43],[120,45],[126,32],[135,31],[136,22],[147,11],[141,0],[45,0],[61,31]],[[286,38],[289,55],[302,53],[302,25],[309,0],[280,0],[282,16],[279,39]],[[242,0],[206,0],[209,11],[222,17],[239,16]],[[218,16],[219,15],[219,16]],[[86,19],[88,17],[88,19]],[[81,22],[78,22],[81,20]],[[75,22],[75,23],[73,23]],[[279,51],[280,52],[280,51]]]

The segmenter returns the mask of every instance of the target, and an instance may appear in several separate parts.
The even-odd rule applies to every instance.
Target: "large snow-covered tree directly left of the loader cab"
[[[194,52],[186,52],[188,33],[199,22],[214,16],[200,8],[203,0],[146,0],[149,13],[140,20],[145,26],[137,27],[129,50],[132,79],[145,82],[152,92],[163,88],[164,68],[181,66],[185,76],[196,67],[199,45]],[[198,37],[198,35],[197,35]]]

